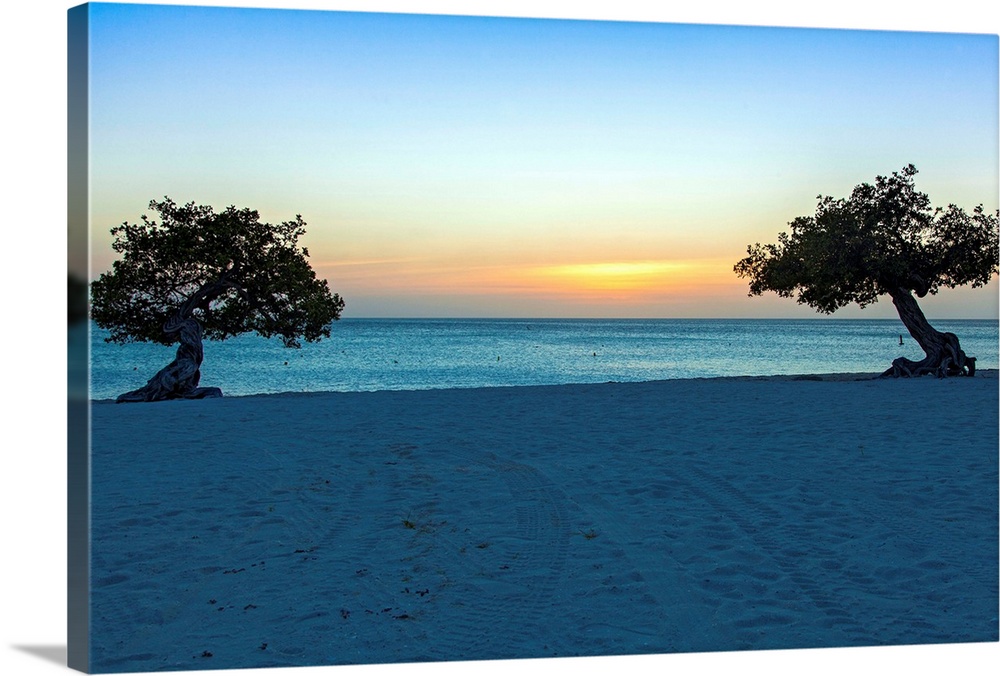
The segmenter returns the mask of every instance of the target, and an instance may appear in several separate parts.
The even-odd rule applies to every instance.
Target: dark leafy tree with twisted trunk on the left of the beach
[[[221,396],[198,386],[203,336],[256,332],[286,347],[330,336],[344,301],[316,278],[308,250],[298,245],[301,216],[272,225],[251,209],[215,213],[170,198],[149,209],[159,221],[143,215],[141,223],[111,229],[120,257],[91,285],[90,313],[110,331],[108,342],[180,345],[170,364],[119,402]]]

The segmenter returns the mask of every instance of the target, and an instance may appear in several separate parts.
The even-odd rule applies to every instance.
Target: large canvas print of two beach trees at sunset
[[[998,640],[998,38],[69,11],[69,661]]]

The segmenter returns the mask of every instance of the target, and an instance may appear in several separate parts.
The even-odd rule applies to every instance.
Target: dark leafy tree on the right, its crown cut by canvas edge
[[[774,291],[827,314],[887,295],[925,357],[900,357],[883,376],[971,376],[975,357],[962,351],[958,336],[930,325],[914,294],[980,287],[997,274],[1000,212],[932,208],[914,188],[916,173],[911,164],[858,185],[847,199],[818,197],[815,215],[789,223],[791,232],[779,233],[777,244],[748,246],[734,270],[750,279],[751,296]]]

